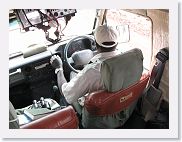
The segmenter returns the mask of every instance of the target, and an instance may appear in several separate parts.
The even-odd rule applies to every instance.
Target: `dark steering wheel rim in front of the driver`
[[[66,44],[66,46],[65,46],[65,48],[64,48],[64,60],[67,62],[69,68],[70,68],[73,72],[75,72],[75,73],[78,73],[79,70],[76,70],[76,69],[71,65],[72,63],[74,63],[74,60],[73,60],[72,56],[68,58],[68,49],[70,48],[70,45],[71,45],[73,42],[78,41],[79,39],[89,39],[89,40],[95,42],[93,36],[84,35],[84,36],[77,36],[77,37],[71,39],[71,40]],[[90,50],[90,51],[91,51],[91,50]],[[74,53],[75,53],[75,52],[74,52]],[[73,54],[74,54],[74,53],[73,53]],[[73,55],[73,54],[72,54],[72,55]]]

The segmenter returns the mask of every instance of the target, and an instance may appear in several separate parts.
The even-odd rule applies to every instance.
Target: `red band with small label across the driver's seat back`
[[[145,89],[150,75],[142,75],[139,82],[115,93],[96,91],[85,100],[85,108],[95,116],[105,116],[122,111],[136,101]]]

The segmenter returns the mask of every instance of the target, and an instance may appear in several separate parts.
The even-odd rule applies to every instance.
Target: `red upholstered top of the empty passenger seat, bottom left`
[[[72,106],[23,125],[22,129],[77,129],[78,118]]]

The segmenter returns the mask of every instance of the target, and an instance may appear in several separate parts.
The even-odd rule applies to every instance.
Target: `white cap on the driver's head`
[[[111,48],[115,45],[117,45],[117,38],[118,38],[118,33],[116,29],[114,29],[111,26],[107,25],[102,25],[96,28],[95,33],[95,40],[96,42],[105,48]],[[104,42],[114,42],[112,45],[105,45],[103,44]]]

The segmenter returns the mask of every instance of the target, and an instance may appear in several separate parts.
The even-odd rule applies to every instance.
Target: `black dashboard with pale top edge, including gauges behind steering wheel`
[[[66,43],[48,47],[47,51],[24,58],[18,56],[9,60],[9,99],[15,109],[31,105],[33,100],[41,97],[55,99],[54,86],[57,76],[50,64],[52,55],[59,55],[63,61],[64,75],[69,80],[70,69],[64,62]],[[68,57],[83,49],[95,50],[95,43],[81,39],[72,42]]]

